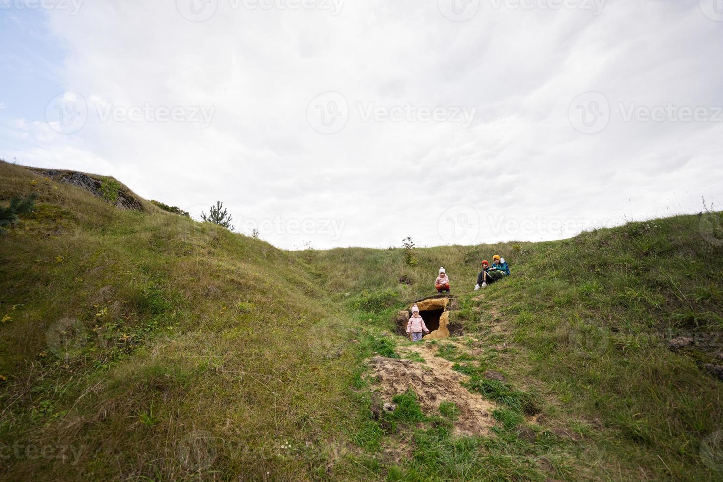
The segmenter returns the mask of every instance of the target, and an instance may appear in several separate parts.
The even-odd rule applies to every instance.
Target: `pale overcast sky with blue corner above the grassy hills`
[[[0,157],[282,248],[723,203],[721,0],[0,0]]]

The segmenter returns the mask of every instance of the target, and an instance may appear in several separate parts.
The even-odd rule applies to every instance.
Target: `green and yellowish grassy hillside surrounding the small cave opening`
[[[279,250],[119,189],[140,210],[0,163],[0,202],[39,195],[0,236],[1,479],[723,475],[719,213],[411,265]],[[513,276],[473,292],[495,253]],[[393,319],[440,266],[465,334],[425,343],[495,404],[484,434],[455,434],[455,400],[425,412],[403,392],[379,413],[368,376],[369,357],[408,356]]]

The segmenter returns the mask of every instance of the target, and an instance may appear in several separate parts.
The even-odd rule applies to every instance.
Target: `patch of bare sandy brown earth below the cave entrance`
[[[454,402],[460,410],[455,421],[455,433],[460,435],[482,435],[489,433],[495,424],[492,410],[494,403],[462,386],[467,376],[454,371],[453,363],[437,356],[436,349],[426,343],[399,347],[401,356],[418,353],[424,362],[375,356],[369,359],[372,376],[377,379],[376,388],[385,402],[391,402],[395,395],[414,391],[422,411],[435,413],[442,402]]]

